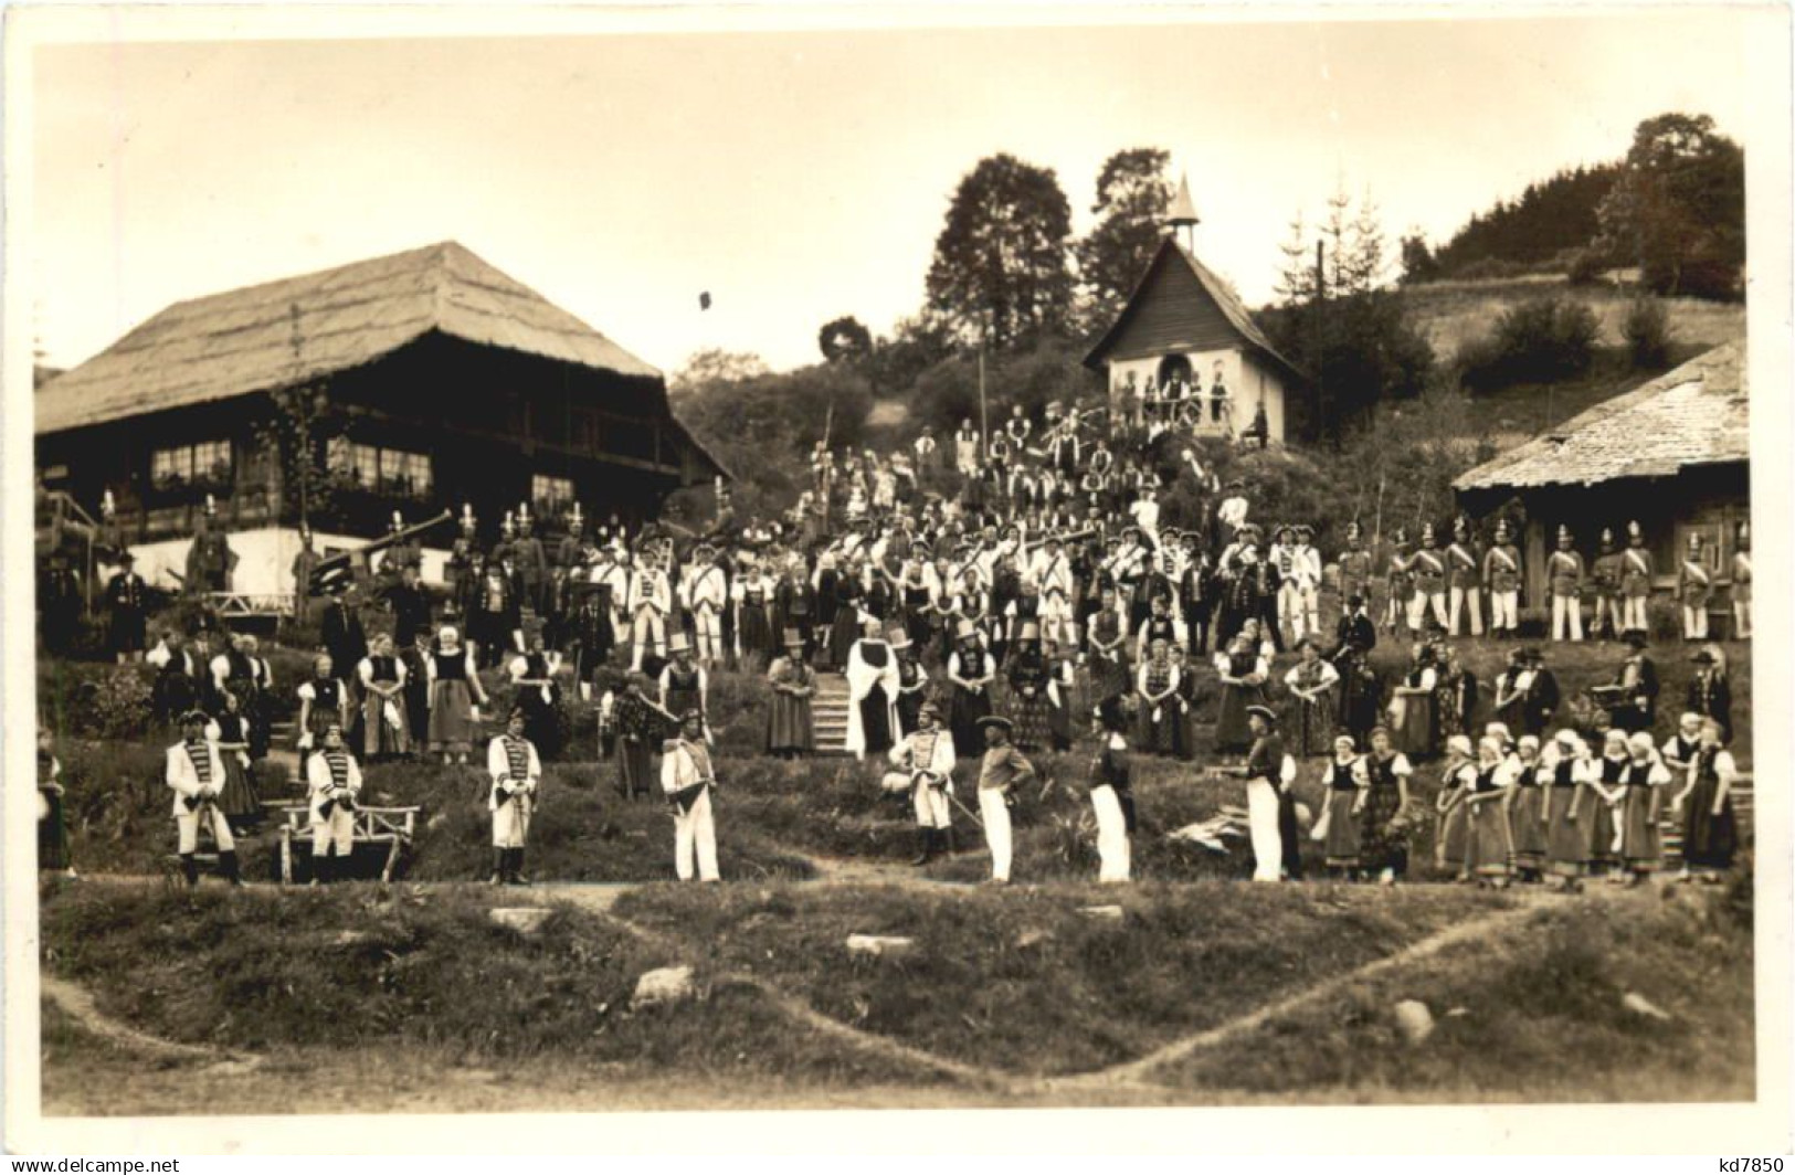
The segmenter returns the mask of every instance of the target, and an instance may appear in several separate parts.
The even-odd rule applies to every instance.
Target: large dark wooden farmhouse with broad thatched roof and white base
[[[454,242],[176,303],[45,382],[36,441],[45,490],[111,493],[153,581],[210,497],[262,594],[291,588],[302,515],[327,547],[395,509],[639,522],[723,474],[659,371]]]

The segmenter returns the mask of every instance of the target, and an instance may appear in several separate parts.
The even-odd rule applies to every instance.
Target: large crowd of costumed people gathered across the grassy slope
[[[573,504],[549,544],[524,506],[488,545],[463,509],[442,596],[420,583],[416,544],[395,542],[377,574],[336,578],[312,603],[320,560],[307,535],[293,572],[298,608],[320,633],[309,680],[276,685],[255,639],[223,630],[194,649],[171,628],[147,655],[156,712],[183,728],[169,752],[181,852],[190,859],[190,831],[210,825],[223,854],[232,829],[255,818],[242,768],[267,753],[273,691],[298,698],[314,856],[328,861],[346,852],[359,764],[468,764],[488,689],[504,683],[515,705],[486,741],[495,881],[522,877],[540,764],[569,750],[565,712],[580,707],[596,714],[596,753],[616,764],[621,795],[650,795],[659,757],[677,872],[714,879],[709,678],[729,667],[765,675],[763,750],[777,757],[819,750],[822,676],[845,678],[844,750],[887,762],[880,786],[914,811],[919,863],[953,845],[955,809],[975,816],[953,782],[976,762],[966,782],[976,779],[998,883],[1011,872],[1009,798],[1034,775],[1027,755],[1081,743],[1095,748],[1090,800],[1106,881],[1129,875],[1140,755],[1240,777],[1255,877],[1267,881],[1301,874],[1300,780],[1325,793],[1309,836],[1330,870],[1402,877],[1425,818],[1409,779],[1434,759],[1438,863],[1459,877],[1639,877],[1662,859],[1657,827],[1671,811],[1684,820],[1686,866],[1725,868],[1736,840],[1732,701],[1725,655],[1705,642],[1712,585],[1698,551],[1677,599],[1686,637],[1702,644],[1668,743],[1653,734],[1644,599],[1655,569],[1637,526],[1624,549],[1603,535],[1594,570],[1560,531],[1547,567],[1553,640],[1583,639],[1587,603],[1590,635],[1624,639],[1612,676],[1589,689],[1596,712],[1567,723],[1574,700],[1540,648],[1517,644],[1488,685],[1497,721],[1479,732],[1483,687],[1454,640],[1519,637],[1524,574],[1511,524],[1493,520],[1488,545],[1463,517],[1445,547],[1431,524],[1418,544],[1398,531],[1379,567],[1350,522],[1323,558],[1309,524],[1264,526],[1246,481],[1222,484],[1199,459],[1192,438],[1204,409],[1217,393],[1231,404],[1219,379],[1212,393],[1172,391],[1129,413],[1048,404],[1038,422],[1016,407],[991,431],[964,422],[937,440],[924,429],[889,454],[817,445],[811,484],[786,515],[738,518],[718,484],[702,533],[632,529],[616,517],[589,526]],[[1741,527],[1741,637],[1747,540]],[[145,644],[131,576],[126,561],[106,592],[122,658]],[[1321,626],[1325,588],[1337,599],[1332,631]],[[363,614],[375,605],[391,615],[391,635],[368,635]],[[1400,673],[1373,664],[1380,631],[1409,644]],[[196,796],[210,798],[196,807]]]

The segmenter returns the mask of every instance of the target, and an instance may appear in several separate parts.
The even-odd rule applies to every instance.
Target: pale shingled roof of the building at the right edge
[[[1592,486],[1750,459],[1745,355],[1729,343],[1479,465],[1456,490]]]

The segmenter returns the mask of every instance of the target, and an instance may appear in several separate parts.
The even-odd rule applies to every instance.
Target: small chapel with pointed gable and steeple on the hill
[[[1106,371],[1118,407],[1142,387],[1183,380],[1204,396],[1199,434],[1239,436],[1264,405],[1269,440],[1282,443],[1285,409],[1303,375],[1271,346],[1228,282],[1179,244],[1178,228],[1188,235],[1195,222],[1190,190],[1179,185],[1170,233],[1084,366]],[[1217,379],[1221,396],[1213,395]]]

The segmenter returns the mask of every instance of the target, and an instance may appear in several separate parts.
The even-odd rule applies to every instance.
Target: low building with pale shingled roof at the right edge
[[[1677,583],[1689,536],[1716,585],[1732,574],[1750,502],[1750,389],[1739,344],[1718,346],[1623,396],[1463,474],[1459,504],[1472,515],[1526,515],[1526,590],[1545,601],[1545,553],[1560,526],[1594,554],[1603,527],[1624,540],[1639,522],[1659,572]]]

